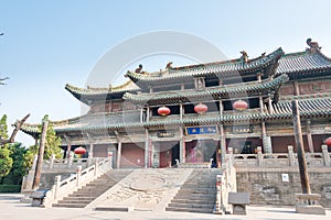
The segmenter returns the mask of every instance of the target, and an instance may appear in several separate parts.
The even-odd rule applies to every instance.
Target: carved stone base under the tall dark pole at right
[[[309,215],[325,215],[325,210],[319,205],[321,195],[319,194],[296,194],[297,213],[309,213]]]

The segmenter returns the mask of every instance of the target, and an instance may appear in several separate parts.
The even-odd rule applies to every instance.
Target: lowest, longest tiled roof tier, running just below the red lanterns
[[[298,99],[301,118],[319,118],[331,117],[331,95],[325,94],[314,99]],[[162,125],[199,125],[232,122],[249,122],[249,121],[274,121],[291,119],[291,100],[280,100],[274,105],[274,113],[259,112],[258,109],[247,109],[243,112],[225,111],[222,117],[217,112],[209,112],[205,114],[185,114],[180,120],[179,116],[154,117],[149,122],[140,122],[140,111],[128,111],[119,113],[94,113],[86,114],[81,118],[70,119],[60,122],[52,122],[57,133],[71,131],[100,131],[117,129],[141,129],[149,127]],[[21,129],[25,133],[39,133],[38,124],[24,124]]]

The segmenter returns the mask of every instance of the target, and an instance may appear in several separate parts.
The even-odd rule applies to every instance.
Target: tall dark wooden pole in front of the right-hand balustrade
[[[305,150],[303,150],[303,140],[302,140],[298,100],[292,100],[292,117],[293,117],[293,129],[295,129],[302,194],[311,194],[310,185],[309,185],[309,176],[307,170],[307,162],[306,162]]]

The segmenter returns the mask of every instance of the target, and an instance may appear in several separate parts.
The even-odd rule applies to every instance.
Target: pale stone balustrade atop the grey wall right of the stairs
[[[265,167],[278,168],[285,166],[298,166],[297,153],[291,145],[288,146],[288,153],[263,154],[261,147],[257,147],[256,154],[233,154],[229,152],[227,157],[234,158],[235,167]],[[328,146],[322,145],[321,153],[306,153],[307,165],[309,167],[331,166],[331,153]]]

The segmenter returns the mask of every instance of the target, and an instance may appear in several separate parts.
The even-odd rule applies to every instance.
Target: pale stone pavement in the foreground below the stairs
[[[257,207],[248,206],[247,216],[216,216],[202,213],[181,213],[166,211],[131,211],[108,212],[94,211],[92,209],[67,209],[67,208],[35,208],[20,204],[21,195],[0,194],[0,219],[1,220],[210,220],[210,219],[260,219],[260,220],[310,220],[331,219],[331,210],[327,216],[299,215],[293,207]]]

